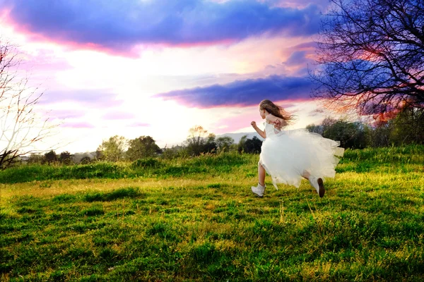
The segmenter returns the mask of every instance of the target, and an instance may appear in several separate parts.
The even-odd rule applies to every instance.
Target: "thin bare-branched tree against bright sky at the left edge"
[[[43,93],[28,86],[28,78],[19,72],[19,66],[16,46],[0,39],[1,169],[25,154],[43,152],[37,150],[37,144],[52,135],[52,128],[57,126],[37,115],[35,107]]]

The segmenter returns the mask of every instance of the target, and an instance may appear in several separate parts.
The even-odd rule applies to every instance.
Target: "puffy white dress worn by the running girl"
[[[343,156],[344,152],[339,142],[305,129],[278,130],[270,123],[265,123],[265,132],[259,163],[276,189],[277,183],[298,188],[304,171],[320,178],[336,175],[339,159],[334,156]]]

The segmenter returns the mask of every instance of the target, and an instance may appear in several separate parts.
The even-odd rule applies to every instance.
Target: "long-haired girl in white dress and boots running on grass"
[[[334,168],[343,156],[343,148],[338,142],[307,130],[281,130],[290,124],[293,116],[269,100],[259,104],[259,114],[265,119],[265,130],[260,130],[252,121],[254,130],[265,140],[262,143],[258,163],[259,183],[252,186],[252,192],[264,197],[265,171],[276,189],[277,183],[294,185],[299,188],[302,178],[310,181],[319,197],[325,193],[323,178],[334,177]]]

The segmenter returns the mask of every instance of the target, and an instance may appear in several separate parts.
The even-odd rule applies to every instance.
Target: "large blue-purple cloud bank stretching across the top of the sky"
[[[0,0],[8,20],[35,37],[129,53],[136,44],[196,45],[260,35],[312,35],[319,6],[280,7],[264,1]]]

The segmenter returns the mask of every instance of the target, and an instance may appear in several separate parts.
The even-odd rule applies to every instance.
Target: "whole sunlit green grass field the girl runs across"
[[[347,150],[320,199],[258,155],[0,172],[1,281],[424,281],[424,146]]]

